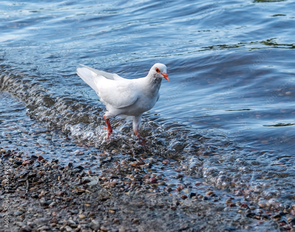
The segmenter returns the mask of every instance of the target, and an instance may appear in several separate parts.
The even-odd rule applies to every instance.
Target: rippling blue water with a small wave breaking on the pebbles
[[[172,159],[171,170],[181,169],[188,181],[201,178],[232,193],[250,189],[247,197],[256,202],[292,204],[294,6],[245,0],[2,1],[1,146],[11,141],[22,149],[19,140],[29,131],[27,155],[40,151],[33,146],[38,140],[44,156],[97,171],[106,169],[99,160],[104,149],[144,151]],[[130,123],[119,119],[111,120],[109,143],[104,106],[76,75],[78,64],[137,78],[156,62],[168,67],[170,82],[162,82],[159,101],[144,115],[141,133],[149,145],[135,141]],[[85,154],[73,155],[77,149]],[[132,157],[120,154],[117,163]]]

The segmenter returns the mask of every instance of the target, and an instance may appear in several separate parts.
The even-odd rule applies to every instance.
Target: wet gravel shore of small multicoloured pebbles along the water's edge
[[[0,149],[1,231],[295,231],[295,205],[270,210],[224,201],[214,190],[201,197],[176,186],[159,191],[163,181],[125,176],[119,167],[98,175]]]

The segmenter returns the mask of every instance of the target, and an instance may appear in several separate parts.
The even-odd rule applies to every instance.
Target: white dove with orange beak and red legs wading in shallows
[[[142,114],[152,109],[159,100],[159,89],[162,78],[169,81],[167,67],[154,64],[146,77],[125,79],[115,73],[108,73],[90,68],[77,68],[77,74],[95,90],[101,102],[106,105],[104,120],[108,129],[108,137],[113,133],[110,117],[121,116],[133,121],[135,135],[140,137],[139,128]]]

